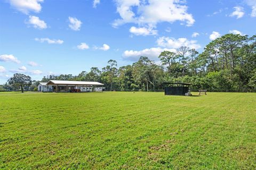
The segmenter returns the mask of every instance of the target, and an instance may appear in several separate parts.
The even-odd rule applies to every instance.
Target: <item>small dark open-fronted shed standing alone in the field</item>
[[[164,82],[164,95],[190,96],[190,83]]]

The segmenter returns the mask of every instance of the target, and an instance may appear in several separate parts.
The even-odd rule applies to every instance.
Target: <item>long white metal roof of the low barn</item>
[[[50,80],[46,85],[104,85],[95,81],[63,81],[63,80]]]

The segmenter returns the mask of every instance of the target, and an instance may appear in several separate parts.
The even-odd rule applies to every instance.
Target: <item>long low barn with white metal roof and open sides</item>
[[[63,81],[50,80],[46,83],[47,87],[52,87],[52,92],[92,92],[103,91],[104,84],[95,81]]]

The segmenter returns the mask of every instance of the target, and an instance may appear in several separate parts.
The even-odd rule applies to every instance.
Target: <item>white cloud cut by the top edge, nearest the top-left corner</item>
[[[18,11],[28,14],[30,11],[40,12],[42,3],[44,0],[9,0],[12,7],[16,8]]]

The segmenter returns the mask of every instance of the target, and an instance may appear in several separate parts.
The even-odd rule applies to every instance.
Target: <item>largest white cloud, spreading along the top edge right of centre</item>
[[[115,0],[117,5],[117,12],[121,19],[117,19],[113,23],[113,27],[125,23],[137,23],[139,25],[147,25],[156,27],[159,22],[175,21],[186,22],[187,26],[194,24],[193,16],[187,13],[187,6],[182,5],[181,0],[170,1],[139,1],[139,0]],[[134,12],[133,8],[137,8]]]

